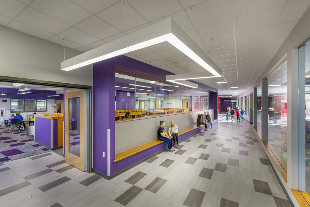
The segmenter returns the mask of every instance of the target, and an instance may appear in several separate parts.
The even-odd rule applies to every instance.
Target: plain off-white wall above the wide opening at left
[[[60,40],[61,41],[61,40]],[[63,46],[0,26],[0,75],[92,85],[92,65],[63,71]],[[65,47],[66,59],[82,52]]]

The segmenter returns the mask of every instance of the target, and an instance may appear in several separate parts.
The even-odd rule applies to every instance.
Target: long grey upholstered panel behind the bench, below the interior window
[[[165,121],[166,132],[168,132],[171,120],[175,121],[181,131],[196,126],[198,113],[203,114],[204,111],[209,111],[211,119],[214,119],[214,109],[209,109],[117,122],[115,123],[115,154],[156,140],[161,120]]]

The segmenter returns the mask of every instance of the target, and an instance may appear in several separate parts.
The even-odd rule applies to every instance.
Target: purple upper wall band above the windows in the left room
[[[55,97],[47,97],[47,91],[43,90],[31,90],[31,93],[17,94],[19,91],[17,88],[3,88],[3,92],[7,95],[1,96],[1,98],[29,98],[29,99],[63,99],[63,94]],[[49,91],[49,95],[55,95],[56,91]]]

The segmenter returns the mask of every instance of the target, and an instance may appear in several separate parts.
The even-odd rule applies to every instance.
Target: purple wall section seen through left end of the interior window
[[[130,96],[127,96],[127,91],[116,91],[116,110],[135,109],[135,92],[129,93]]]

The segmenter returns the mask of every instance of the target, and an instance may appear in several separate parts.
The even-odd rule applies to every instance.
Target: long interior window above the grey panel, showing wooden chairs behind
[[[115,71],[115,121],[209,109],[209,94],[200,88]]]

